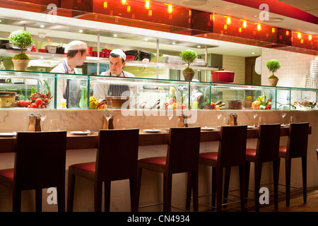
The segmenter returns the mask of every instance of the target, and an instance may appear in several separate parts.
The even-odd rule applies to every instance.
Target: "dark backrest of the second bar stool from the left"
[[[138,148],[139,129],[101,129],[95,179],[112,181],[136,177]]]

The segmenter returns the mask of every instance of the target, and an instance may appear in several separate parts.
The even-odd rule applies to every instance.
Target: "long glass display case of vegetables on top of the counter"
[[[318,89],[307,88],[28,71],[0,71],[0,82],[0,107],[318,109]],[[8,93],[15,93],[11,105],[4,104]]]

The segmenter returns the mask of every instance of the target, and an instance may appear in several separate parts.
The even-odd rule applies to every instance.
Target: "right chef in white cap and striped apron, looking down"
[[[124,71],[126,54],[121,49],[113,49],[110,52],[110,70],[102,72],[100,76],[117,76],[135,78],[132,73]],[[107,96],[136,97],[136,86],[117,85],[112,83],[94,83],[94,97],[105,100]]]

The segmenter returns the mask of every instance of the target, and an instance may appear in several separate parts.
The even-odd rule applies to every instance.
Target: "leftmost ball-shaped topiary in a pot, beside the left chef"
[[[23,52],[23,49],[28,48],[31,44],[33,44],[31,33],[25,30],[17,30],[15,32],[11,32],[8,38],[12,44],[21,49],[20,54],[16,54],[12,58],[14,68],[18,71],[26,71],[30,58]]]

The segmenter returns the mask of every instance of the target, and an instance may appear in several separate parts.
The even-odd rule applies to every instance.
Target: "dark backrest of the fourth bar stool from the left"
[[[247,125],[222,126],[218,145],[218,163],[221,167],[245,164]]]

